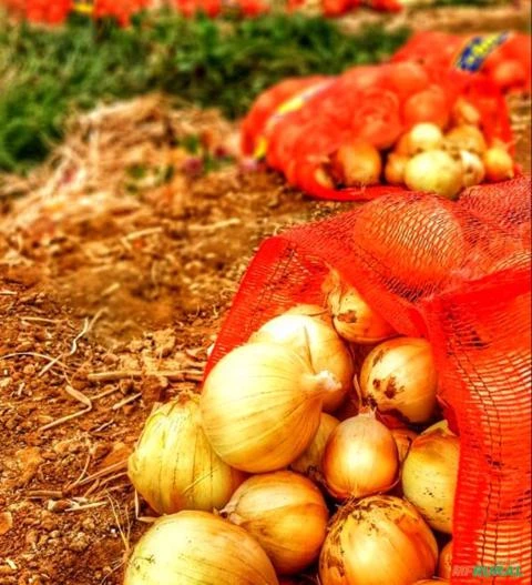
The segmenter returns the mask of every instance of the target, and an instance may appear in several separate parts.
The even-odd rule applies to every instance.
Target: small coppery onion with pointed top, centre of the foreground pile
[[[386,492],[399,466],[396,442],[372,413],[362,413],[332,431],[321,465],[327,490],[337,500]]]

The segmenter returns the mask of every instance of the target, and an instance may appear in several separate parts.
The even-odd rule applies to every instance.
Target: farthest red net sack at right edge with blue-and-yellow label
[[[399,49],[392,61],[482,71],[502,91],[530,91],[531,51],[531,37],[524,33],[418,32]]]

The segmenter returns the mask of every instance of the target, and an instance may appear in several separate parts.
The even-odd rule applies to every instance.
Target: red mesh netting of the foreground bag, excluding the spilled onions
[[[398,332],[427,337],[461,437],[452,583],[531,583],[530,190],[521,176],[459,202],[390,194],[266,240],[207,364],[294,304],[325,306],[331,268]],[[479,565],[522,576],[481,581]]]

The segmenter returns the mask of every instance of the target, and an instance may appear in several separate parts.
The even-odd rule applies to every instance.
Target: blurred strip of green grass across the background
[[[0,170],[25,172],[61,140],[78,110],[162,90],[243,115],[287,75],[338,73],[386,59],[408,37],[368,28],[357,36],[304,16],[239,21],[144,14],[132,27],[0,26]]]

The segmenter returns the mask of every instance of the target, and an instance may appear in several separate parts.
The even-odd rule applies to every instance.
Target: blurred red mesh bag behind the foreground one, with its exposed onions
[[[498,88],[482,75],[415,62],[283,81],[255,101],[242,147],[289,183],[334,200],[405,186],[456,199],[515,173]]]

